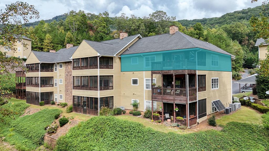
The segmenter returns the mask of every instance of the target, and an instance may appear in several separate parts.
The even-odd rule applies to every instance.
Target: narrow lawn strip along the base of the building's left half
[[[11,98],[9,101],[10,102],[26,102],[25,100],[20,100],[20,99],[15,99],[15,98]],[[57,106],[57,105],[54,105],[54,106],[48,106],[48,105],[45,105],[45,106],[30,105],[30,107],[36,108],[36,109],[41,109],[41,110],[43,110],[43,109],[60,109],[60,110],[63,111],[63,113],[62,113],[63,116],[66,116],[66,117],[74,117],[77,120],[82,120],[82,121],[88,120],[88,119],[90,119],[90,118],[93,117],[93,116],[90,116],[90,115],[79,114],[79,113],[74,113],[74,112],[66,113],[65,108],[62,108],[61,106]]]

